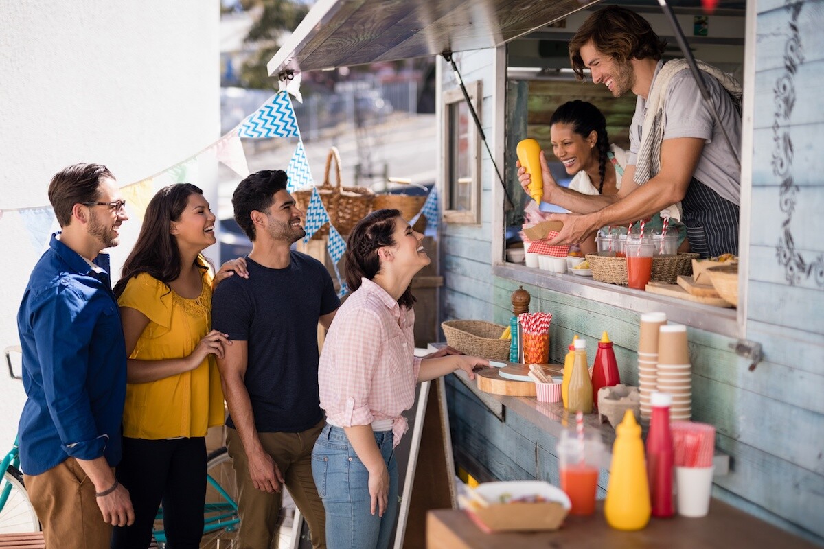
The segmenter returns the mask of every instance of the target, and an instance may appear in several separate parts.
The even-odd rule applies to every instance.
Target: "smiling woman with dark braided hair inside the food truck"
[[[610,144],[606,134],[606,119],[595,105],[574,100],[559,106],[550,119],[550,140],[553,154],[564,164],[567,174],[574,176],[569,182],[570,189],[582,194],[605,196],[618,193],[629,155],[620,147]],[[521,175],[524,171],[519,170],[518,174]],[[544,185],[556,184],[551,174],[546,178],[549,173],[544,172]],[[679,244],[682,244],[686,236],[683,226],[672,222],[670,226],[679,230]],[[655,214],[646,227],[648,230],[660,231],[660,214]],[[597,251],[595,233],[587,235],[579,246],[584,254],[594,254]]]

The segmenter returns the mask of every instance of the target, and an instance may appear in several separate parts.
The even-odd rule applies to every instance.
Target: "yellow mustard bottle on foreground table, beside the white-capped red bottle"
[[[652,513],[648,486],[641,426],[635,422],[632,410],[627,410],[624,421],[616,427],[616,441],[612,444],[610,482],[604,502],[606,523],[616,530],[644,528]]]

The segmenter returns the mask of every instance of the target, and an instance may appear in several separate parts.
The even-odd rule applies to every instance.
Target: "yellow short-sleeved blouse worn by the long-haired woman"
[[[203,291],[185,299],[146,273],[126,284],[118,303],[149,319],[129,358],[157,361],[189,356],[212,326],[212,276]],[[223,423],[223,393],[214,355],[197,368],[164,379],[126,385],[123,434],[136,439],[205,436]]]

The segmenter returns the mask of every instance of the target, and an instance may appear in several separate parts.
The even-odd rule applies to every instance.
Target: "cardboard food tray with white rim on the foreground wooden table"
[[[569,513],[569,497],[557,486],[541,481],[486,482],[475,494],[488,505],[471,505],[471,513],[491,532],[557,530]],[[517,500],[540,495],[541,503],[497,503],[501,497]]]

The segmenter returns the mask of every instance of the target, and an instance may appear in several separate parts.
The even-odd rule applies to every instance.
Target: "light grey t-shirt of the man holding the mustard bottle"
[[[663,62],[659,61],[653,75],[653,86]],[[720,82],[706,72],[701,72],[709,89],[709,97],[730,140],[735,147],[741,147],[741,116],[737,113],[733,100]],[[650,86],[652,89],[652,86]],[[645,100],[640,95],[635,103],[635,114],[630,125],[630,158],[628,164],[635,165],[641,146],[641,128],[647,115]],[[677,72],[667,87],[664,102],[667,111],[667,125],[664,140],[676,137],[698,137],[705,140],[704,151],[695,167],[695,179],[713,189],[719,196],[733,204],[740,203],[741,172],[723,138],[721,129],[715,126],[713,115],[705,105],[692,72]]]

